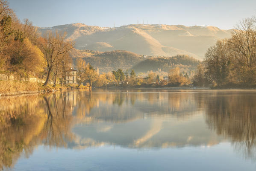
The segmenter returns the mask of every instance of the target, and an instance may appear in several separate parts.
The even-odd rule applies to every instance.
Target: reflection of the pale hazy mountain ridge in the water
[[[221,137],[207,129],[202,117],[187,121],[165,117],[136,119],[124,123],[87,123],[74,127],[79,140],[93,139],[98,144],[121,145],[130,148],[162,148],[211,146]],[[81,146],[79,141],[78,145]],[[87,144],[88,145],[88,144]]]

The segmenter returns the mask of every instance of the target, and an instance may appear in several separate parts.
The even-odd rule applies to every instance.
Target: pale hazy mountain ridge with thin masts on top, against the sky
[[[76,42],[77,49],[95,51],[127,50],[140,55],[174,56],[189,55],[203,59],[218,39],[231,36],[232,29],[222,30],[214,26],[182,26],[163,24],[131,24],[117,28],[87,26],[72,23],[51,28],[39,28],[67,32],[67,39]]]

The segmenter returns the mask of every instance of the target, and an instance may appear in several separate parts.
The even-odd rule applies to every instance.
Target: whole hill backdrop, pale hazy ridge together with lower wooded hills
[[[132,68],[135,72],[158,69],[168,72],[171,64],[177,65],[177,60],[172,62],[173,59],[168,60],[166,57],[188,55],[202,60],[210,46],[220,39],[229,38],[233,32],[233,29],[224,30],[214,26],[130,24],[109,28],[83,23],[39,30],[42,34],[48,30],[66,32],[66,39],[76,43],[75,49],[70,53],[73,61],[75,58],[83,58],[87,63],[98,67],[100,72],[118,68]],[[199,63],[195,59],[187,58],[186,62],[181,61],[179,64],[194,70]],[[166,66],[168,64],[169,67]]]

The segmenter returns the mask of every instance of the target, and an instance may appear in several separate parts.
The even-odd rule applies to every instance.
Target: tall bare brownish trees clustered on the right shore
[[[206,51],[193,84],[256,88],[256,17],[241,20],[231,38],[217,41]]]

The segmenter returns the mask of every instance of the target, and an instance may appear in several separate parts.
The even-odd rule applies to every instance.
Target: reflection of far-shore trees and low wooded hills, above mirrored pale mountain
[[[186,118],[196,110],[191,93],[87,92],[80,94],[77,101],[75,113],[80,118],[90,118],[90,122],[128,122],[144,118],[145,114]]]

